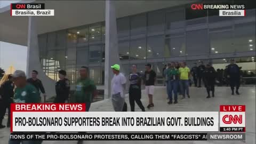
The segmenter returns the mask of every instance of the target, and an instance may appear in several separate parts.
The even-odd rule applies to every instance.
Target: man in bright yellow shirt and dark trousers
[[[188,98],[190,98],[189,82],[188,82],[190,69],[186,66],[185,62],[181,62],[181,67],[179,68],[179,72],[180,72],[180,90],[181,90],[181,94],[183,95],[182,99],[185,99],[185,92],[187,93]]]

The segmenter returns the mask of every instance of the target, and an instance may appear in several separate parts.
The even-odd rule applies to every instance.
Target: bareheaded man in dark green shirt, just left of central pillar
[[[97,89],[89,77],[89,68],[81,67],[80,78],[76,82],[75,102],[85,103],[86,111],[89,111],[93,98],[97,95]]]

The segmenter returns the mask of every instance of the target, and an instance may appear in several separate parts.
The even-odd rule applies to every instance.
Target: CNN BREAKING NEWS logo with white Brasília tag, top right
[[[245,4],[191,4],[192,10],[219,10],[220,17],[245,17]]]

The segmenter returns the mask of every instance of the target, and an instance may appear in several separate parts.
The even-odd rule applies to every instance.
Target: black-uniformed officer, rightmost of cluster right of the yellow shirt
[[[205,70],[203,71],[204,84],[208,94],[206,98],[211,98],[210,91],[212,91],[212,97],[214,97],[214,84],[216,76],[217,72],[215,69],[211,67],[210,64],[207,64]]]

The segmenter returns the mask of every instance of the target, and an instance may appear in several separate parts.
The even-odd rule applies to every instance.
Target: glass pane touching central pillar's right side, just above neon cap
[[[129,60],[130,55],[130,44],[129,41],[122,41],[118,43],[119,47],[119,59],[120,60]]]

